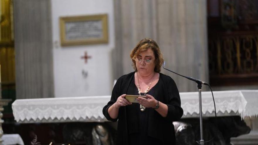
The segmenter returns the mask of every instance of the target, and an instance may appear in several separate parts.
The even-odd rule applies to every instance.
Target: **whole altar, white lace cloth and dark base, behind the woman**
[[[224,137],[224,142],[230,142],[231,137],[236,137],[235,134],[247,134],[250,128],[246,126],[243,119],[248,117],[256,117],[258,115],[258,90],[237,90],[237,91],[214,91],[214,100],[216,105],[216,113],[218,116],[218,128],[215,127],[215,112],[213,98],[211,92],[202,92],[202,113],[205,135],[212,134],[212,130],[220,130],[217,133]],[[192,144],[198,138],[199,130],[199,98],[198,92],[180,93],[181,107],[184,110],[182,119],[179,122],[173,122],[175,125],[176,138],[183,137],[187,140],[192,139]],[[41,99],[20,99],[15,100],[12,104],[13,116],[18,124],[22,124],[23,129],[35,128],[29,134],[40,134],[42,128],[62,134],[62,137],[55,139],[55,136],[45,137],[40,134],[40,137],[49,139],[50,141],[62,142],[66,141],[83,141],[84,134],[92,136],[96,125],[109,127],[109,131],[113,136],[116,136],[116,122],[106,120],[102,113],[102,108],[108,103],[111,96],[87,96],[87,97],[70,97],[70,98],[41,98]],[[38,125],[35,125],[38,124]],[[40,125],[39,125],[40,124]],[[178,132],[182,129],[177,129],[179,125],[185,124],[184,132],[191,133],[187,136],[180,135]],[[178,127],[180,128],[180,127]],[[40,130],[40,132],[37,132]],[[71,133],[73,132],[73,133]],[[197,132],[197,133],[194,133]],[[47,132],[45,132],[47,133]],[[197,134],[194,135],[194,134]],[[237,135],[238,136],[238,135]],[[26,138],[28,142],[31,138]],[[39,139],[40,139],[39,137]],[[204,136],[205,137],[205,136]],[[50,139],[51,138],[51,139]],[[43,139],[42,140],[46,140]],[[198,139],[197,139],[198,140]],[[207,139],[206,139],[207,140]],[[89,141],[89,139],[88,139]],[[255,140],[256,141],[256,140]],[[42,141],[41,141],[42,142]],[[76,144],[76,143],[74,143]],[[177,144],[185,144],[177,143]]]

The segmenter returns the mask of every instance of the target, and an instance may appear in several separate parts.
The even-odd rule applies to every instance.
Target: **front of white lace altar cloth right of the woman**
[[[182,101],[181,107],[184,108],[184,115],[191,116],[193,113],[199,114],[199,95],[196,93],[181,93]],[[244,117],[244,111],[247,104],[241,91],[214,91],[214,100],[216,111],[229,114],[234,112],[240,113]],[[202,112],[203,114],[214,113],[214,104],[211,92],[202,92]]]

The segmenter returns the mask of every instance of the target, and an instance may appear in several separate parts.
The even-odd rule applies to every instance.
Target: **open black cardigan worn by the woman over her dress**
[[[126,94],[130,83],[134,79],[134,73],[126,74],[121,76],[112,91],[111,100],[103,108],[103,115],[110,121],[118,120],[118,136],[117,144],[128,144],[128,132],[132,129],[128,129],[128,124],[135,124],[133,120],[135,118],[128,118],[126,112],[128,112],[128,106],[120,107],[118,112],[118,117],[112,119],[108,114],[108,108],[116,102],[117,98]],[[148,136],[155,137],[164,142],[164,144],[175,144],[175,132],[174,125],[172,121],[179,120],[183,115],[183,109],[181,108],[181,100],[179,96],[178,89],[174,80],[167,75],[159,73],[159,81],[156,84],[158,85],[158,94],[153,96],[156,100],[166,104],[168,106],[167,117],[162,117],[157,111],[151,109],[149,112],[148,120]],[[159,94],[163,94],[159,96]],[[130,94],[131,95],[131,94]],[[130,115],[132,117],[132,115]],[[131,125],[129,125],[131,126]],[[134,130],[137,130],[137,125],[134,127]]]

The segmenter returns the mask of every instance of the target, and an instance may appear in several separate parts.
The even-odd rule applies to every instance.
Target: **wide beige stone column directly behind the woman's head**
[[[119,64],[115,78],[133,71],[131,50],[142,38],[151,37],[159,44],[167,68],[208,81],[206,1],[114,0],[114,4],[117,54],[113,63]],[[197,91],[194,82],[162,73],[176,81],[180,92]]]

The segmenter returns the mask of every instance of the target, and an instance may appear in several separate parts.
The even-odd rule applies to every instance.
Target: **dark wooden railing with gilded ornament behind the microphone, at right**
[[[208,43],[211,84],[258,84],[257,33],[224,32]]]

